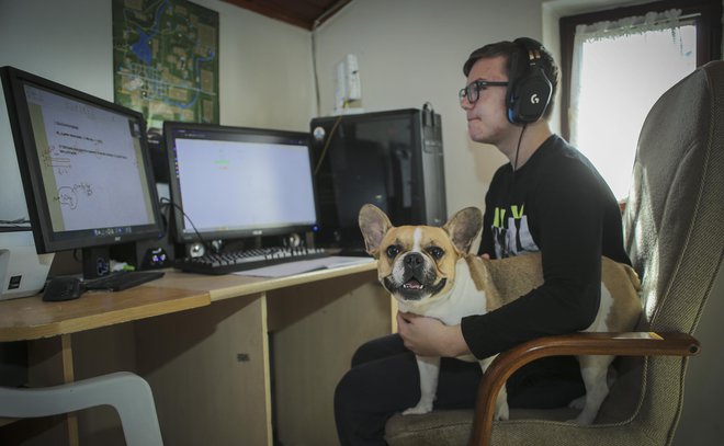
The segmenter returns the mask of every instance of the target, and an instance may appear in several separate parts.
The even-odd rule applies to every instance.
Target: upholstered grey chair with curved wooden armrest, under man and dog
[[[713,284],[724,279],[723,106],[724,61],[712,61],[664,93],[644,122],[623,216],[626,250],[642,277],[640,338],[575,333],[504,352],[480,382],[475,411],[395,415],[385,431],[391,445],[671,443],[688,356],[699,351],[691,334]],[[621,356],[619,379],[592,425],[565,422],[576,415],[567,408],[511,410],[510,420],[493,422],[496,394],[517,368],[579,354]]]

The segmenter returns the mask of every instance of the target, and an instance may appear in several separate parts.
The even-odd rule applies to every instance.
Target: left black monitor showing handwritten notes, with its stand
[[[82,249],[87,278],[115,243],[162,235],[140,113],[12,67],[0,69],[38,253]]]

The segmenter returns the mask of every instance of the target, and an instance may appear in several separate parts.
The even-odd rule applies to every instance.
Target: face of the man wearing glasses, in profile
[[[506,58],[502,56],[479,59],[467,75],[467,84],[476,80],[508,81]],[[506,87],[487,87],[471,103],[466,98],[461,105],[467,115],[467,133],[471,139],[498,146],[511,129],[506,117]]]

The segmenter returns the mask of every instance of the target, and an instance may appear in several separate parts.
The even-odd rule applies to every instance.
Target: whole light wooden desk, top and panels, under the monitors
[[[169,445],[336,444],[335,386],[391,330],[373,263],[274,279],[169,271],[122,293],[0,302],[0,342],[29,341],[33,385],[135,371]],[[122,435],[110,409],[77,428],[80,444]]]

